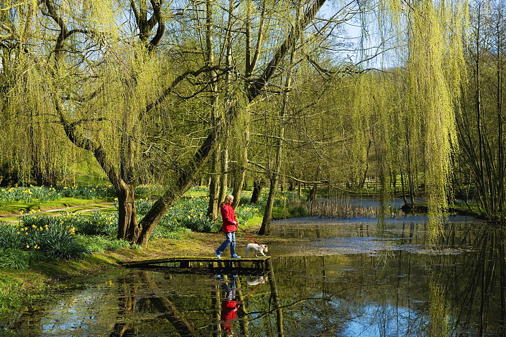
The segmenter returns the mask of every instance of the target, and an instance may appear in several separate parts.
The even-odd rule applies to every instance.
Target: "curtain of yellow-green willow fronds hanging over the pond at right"
[[[356,87],[347,92],[354,97],[348,107],[342,102],[350,99],[341,98],[336,89],[345,81],[333,79],[335,85],[328,95],[334,98],[328,102],[340,110],[334,111],[334,116],[343,129],[343,145],[333,150],[347,152],[342,160],[345,167],[338,170],[356,182],[371,169],[361,164],[366,156],[385,196],[395,165],[407,171],[409,180],[417,176],[417,170],[423,172],[429,228],[431,238],[435,238],[447,208],[450,163],[457,146],[455,107],[462,81],[466,3],[383,2],[377,13],[377,26],[383,33],[381,43],[387,43],[386,36],[397,34],[397,46],[392,47],[397,54],[388,54],[390,59],[383,72],[354,75],[358,79]],[[397,66],[392,63],[394,58],[399,60]],[[336,136],[338,130],[333,133]],[[368,154],[367,139],[371,139]],[[414,183],[409,185],[412,188]],[[410,194],[413,196],[414,191]]]

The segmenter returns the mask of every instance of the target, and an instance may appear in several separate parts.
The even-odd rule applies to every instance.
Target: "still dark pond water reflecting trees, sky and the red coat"
[[[432,247],[423,217],[277,221],[273,235],[313,240],[269,247],[263,274],[112,270],[0,335],[504,336],[506,232],[450,219]]]

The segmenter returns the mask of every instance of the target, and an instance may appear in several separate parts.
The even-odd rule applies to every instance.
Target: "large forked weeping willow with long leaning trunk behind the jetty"
[[[323,3],[300,17],[267,2],[2,3],[3,155],[32,165],[42,147],[23,146],[30,132],[47,147],[39,160],[90,152],[118,194],[118,238],[145,244]],[[244,6],[246,40],[234,16]],[[146,181],[167,189],[139,221],[134,191]]]

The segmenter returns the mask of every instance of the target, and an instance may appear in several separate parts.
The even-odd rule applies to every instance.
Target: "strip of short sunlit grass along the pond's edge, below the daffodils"
[[[250,235],[258,231],[262,216],[251,218],[244,226]],[[258,238],[258,237],[257,237]],[[192,232],[180,234],[179,239],[156,238],[141,249],[124,248],[119,251],[94,252],[84,260],[37,262],[26,270],[0,268],[0,312],[3,315],[19,312],[32,306],[41,298],[58,293],[73,277],[86,276],[112,268],[122,268],[120,261],[140,258],[171,256],[214,256],[214,249],[223,241],[222,233]],[[263,237],[262,243],[298,241],[271,236]],[[245,234],[237,234],[238,247],[251,242]]]

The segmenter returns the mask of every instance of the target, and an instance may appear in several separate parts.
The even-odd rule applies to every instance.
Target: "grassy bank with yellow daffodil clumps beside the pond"
[[[97,196],[105,196],[99,195],[100,193],[109,194],[108,189],[108,186],[59,189],[30,187],[30,189],[12,188],[0,191],[0,195],[3,195],[2,208],[5,213],[12,214],[14,209],[23,209],[25,212],[28,209],[32,210],[20,218],[16,217],[14,223],[2,225],[4,231],[0,235],[2,243],[0,246],[4,249],[4,256],[0,265],[5,268],[0,268],[0,313],[5,315],[19,312],[20,307],[30,306],[41,297],[58,293],[62,287],[69,286],[70,283],[65,281],[73,277],[121,268],[118,264],[120,261],[173,256],[212,257],[214,250],[224,239],[223,234],[218,232],[221,228],[220,223],[212,222],[205,217],[207,202],[205,197],[199,196],[207,193],[202,188],[190,190],[186,197],[181,198],[167,212],[149,243],[144,247],[129,247],[128,242],[115,240],[117,213],[114,203],[101,205],[104,207],[101,207],[103,209],[100,211],[80,213],[79,209],[75,208],[68,210],[72,213],[49,212],[50,209],[58,208],[60,205],[78,206],[79,203],[82,210],[91,210],[93,207],[90,207],[90,204],[98,203]],[[139,218],[142,218],[151,207],[150,199],[156,194],[154,192],[156,189],[152,186],[136,190],[136,194],[142,196],[136,203]],[[91,198],[86,199],[86,196]],[[244,202],[236,210],[236,215],[243,224],[241,227],[254,235],[262,223],[261,209],[265,206],[267,195],[263,193],[258,204],[254,205],[247,202],[249,198],[250,192],[244,192]],[[41,199],[44,199],[44,202],[40,202]],[[280,192],[275,200],[273,219],[304,216],[299,209],[298,199],[299,196],[294,193]],[[15,207],[6,207],[10,203],[16,203]],[[46,209],[47,212],[38,214],[39,209]],[[56,241],[49,240],[52,237]],[[20,243],[10,246],[10,242],[16,240],[20,240]],[[270,244],[288,240],[298,241],[274,237],[262,237],[260,241]],[[55,248],[62,242],[70,244],[74,250],[81,246],[86,247],[87,252],[82,254],[80,251],[68,249],[65,253],[69,254],[68,256],[78,253],[73,255],[72,261],[68,261],[69,259]],[[238,247],[243,247],[249,242],[251,239],[244,233],[241,231],[237,233]],[[83,259],[79,260],[81,258]],[[21,264],[23,260],[24,266]]]

